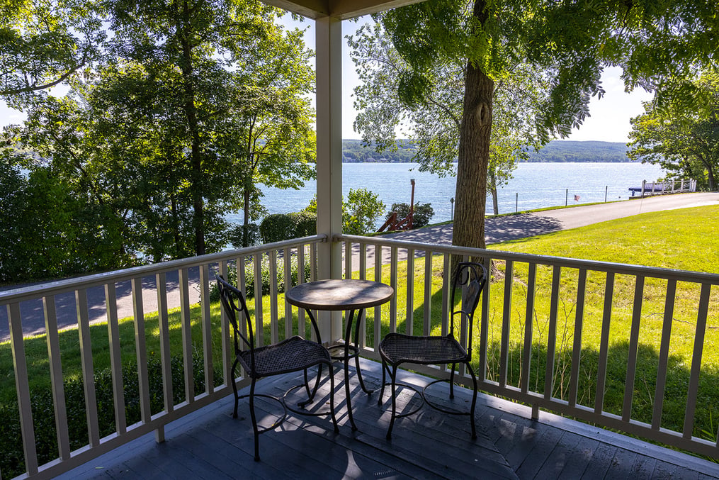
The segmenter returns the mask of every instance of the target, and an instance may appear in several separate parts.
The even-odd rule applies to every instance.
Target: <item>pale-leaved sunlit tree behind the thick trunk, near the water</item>
[[[355,88],[354,127],[362,132],[364,142],[383,151],[404,146],[397,137],[409,139],[416,145],[413,160],[420,171],[453,174],[462,127],[464,64],[448,59],[430,65],[431,71],[424,73],[430,85],[411,104],[397,95],[411,66],[395,50],[381,23],[360,27],[348,42],[362,80]],[[534,130],[534,118],[546,96],[540,78],[541,72],[531,65],[515,65],[494,91],[488,186],[495,214],[497,187],[511,178],[516,162],[528,158],[530,148],[542,143]]]

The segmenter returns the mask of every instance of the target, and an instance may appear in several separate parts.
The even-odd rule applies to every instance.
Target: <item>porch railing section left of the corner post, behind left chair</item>
[[[0,292],[0,307],[6,309],[9,320],[10,344],[12,346],[12,357],[14,364],[14,379],[17,390],[19,406],[19,422],[22,430],[22,448],[24,456],[25,474],[21,477],[47,479],[55,475],[81,465],[86,461],[117,448],[141,435],[155,431],[158,441],[163,440],[163,427],[183,415],[199,409],[216,399],[232,394],[230,386],[231,358],[234,359],[231,337],[227,322],[221,320],[219,313],[211,313],[211,302],[209,302],[210,285],[214,282],[214,273],[221,272],[227,275],[228,265],[243,265],[251,262],[254,266],[255,296],[248,300],[248,306],[252,309],[254,304],[257,322],[270,322],[269,338],[263,338],[262,329],[257,336],[258,343],[278,342],[280,336],[292,335],[292,310],[285,306],[285,302],[278,301],[279,295],[277,284],[278,263],[283,263],[282,276],[285,279],[285,288],[290,286],[292,275],[290,273],[291,262],[280,262],[278,259],[295,258],[298,263],[298,271],[304,271],[306,258],[310,262],[311,278],[316,272],[316,245],[326,241],[324,236],[305,237],[286,242],[261,245],[257,248],[245,248],[231,250],[201,257],[186,258],[179,261],[169,261],[155,265],[129,268],[122,271],[101,273],[98,275],[86,276],[78,279],[57,281],[37,286],[30,286],[22,289],[15,289]],[[298,251],[304,251],[306,255],[298,255]],[[263,311],[262,306],[262,261],[269,263],[269,268],[275,273],[270,278],[270,289],[275,292],[270,296],[269,312]],[[199,268],[199,298],[201,307],[199,317],[191,314],[191,284],[188,281],[188,271],[191,268]],[[179,304],[168,305],[168,286],[165,276],[170,272],[178,273]],[[155,278],[154,291],[143,287],[147,280]],[[243,290],[249,279],[244,274],[244,269],[239,269],[239,286]],[[302,278],[300,276],[299,278]],[[118,303],[122,299],[116,296],[116,286],[121,282],[130,281],[132,284],[132,297],[124,299],[132,302],[134,317],[134,350],[137,359],[137,382],[139,386],[139,408],[140,420],[132,425],[127,425],[126,399],[123,385],[123,367],[121,360],[120,329]],[[145,281],[145,282],[144,282]],[[113,386],[113,408],[114,408],[114,433],[101,438],[101,422],[99,417],[99,404],[96,398],[96,385],[94,376],[97,373],[93,368],[93,350],[91,345],[91,324],[89,321],[88,289],[96,287],[104,288],[105,302],[103,308],[106,310],[106,338],[109,345],[109,356],[111,362],[111,378]],[[71,445],[77,443],[77,439],[68,435],[68,405],[65,404],[64,384],[68,379],[63,376],[63,366],[60,361],[60,333],[58,332],[58,315],[55,307],[55,296],[72,292],[75,296],[75,307],[77,312],[75,340],[81,356],[81,376],[84,386],[85,410],[87,420],[87,444],[81,448],[72,450]],[[145,335],[146,315],[142,298],[144,295],[157,295],[157,340],[160,345],[160,361],[162,364],[162,397],[163,404],[160,412],[152,412],[150,407],[150,373],[148,372],[148,358],[152,352],[148,352]],[[52,412],[55,415],[55,429],[58,438],[58,451],[56,458],[39,458],[35,443],[35,412],[31,407],[31,385],[32,379],[28,376],[28,363],[24,349],[23,338],[23,315],[21,304],[23,302],[37,301],[42,299],[42,308],[45,317],[45,336],[47,340],[47,357],[44,358],[49,365],[50,383],[52,389]],[[175,404],[173,402],[173,375],[171,371],[172,357],[170,355],[170,322],[168,312],[173,307],[179,307],[181,343],[182,343],[182,364],[184,379],[183,401]],[[94,306],[93,308],[96,308]],[[217,310],[216,312],[219,312]],[[173,312],[176,314],[176,312]],[[197,314],[195,314],[197,315]],[[285,332],[278,330],[280,320],[284,320]],[[305,322],[304,315],[300,314],[300,321]],[[201,329],[201,341],[193,343],[192,330]],[[76,332],[76,333],[75,333]],[[63,334],[64,335],[64,334]],[[93,335],[96,332],[93,331]],[[93,337],[93,340],[96,338]],[[122,339],[127,342],[127,338]],[[132,340],[130,340],[132,341]],[[203,376],[205,389],[196,394],[193,389],[195,380],[193,378],[193,352],[200,352],[203,363]],[[175,352],[176,353],[176,352]],[[63,353],[64,354],[64,353]],[[219,376],[219,378],[216,378]],[[12,377],[8,378],[11,379]],[[240,387],[247,383],[244,378],[239,379]],[[47,414],[46,414],[47,415]],[[17,422],[17,420],[16,420]],[[20,439],[19,439],[20,440]],[[6,452],[3,453],[6,455]],[[8,478],[8,471],[0,471],[0,475]],[[0,478],[1,478],[0,476]]]

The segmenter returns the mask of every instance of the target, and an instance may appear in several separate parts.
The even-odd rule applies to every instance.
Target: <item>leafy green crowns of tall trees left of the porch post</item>
[[[83,209],[73,219],[99,215],[101,225],[86,230],[111,232],[119,258],[139,254],[157,262],[221,250],[230,235],[227,213],[242,209],[248,223],[264,213],[257,184],[298,188],[313,176],[306,98],[313,73],[302,32],[285,32],[274,22],[280,10],[258,1],[191,3],[187,15],[161,0],[112,0],[102,4],[100,23],[92,4],[70,2],[43,11],[45,20],[58,21],[47,25],[32,17],[42,2],[4,7],[12,35],[32,35],[22,32],[32,22],[40,32],[91,29],[83,33],[99,49],[92,50],[93,69],[73,76],[63,99],[26,91],[23,100],[4,90],[12,83],[7,78],[35,77],[26,74],[29,64],[2,62],[8,69],[0,73],[0,94],[24,101],[28,114],[5,140],[46,159],[50,183],[67,187],[66,208]],[[73,12],[78,18],[69,22]],[[33,57],[41,46],[26,42],[26,60],[58,60],[37,72],[63,76],[63,68],[77,65],[59,60],[72,63],[85,53],[70,40],[42,58]],[[1,43],[0,58],[12,48]]]

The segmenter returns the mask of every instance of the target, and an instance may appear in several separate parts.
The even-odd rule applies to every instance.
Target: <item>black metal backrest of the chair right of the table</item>
[[[452,315],[449,322],[449,335],[454,338],[454,316],[464,314],[467,318],[467,355],[472,356],[472,325],[475,318],[475,310],[477,304],[480,302],[480,294],[484,289],[485,282],[487,281],[487,268],[481,263],[475,262],[460,262],[457,264],[457,270],[454,272],[454,279],[452,279],[452,295],[450,301],[452,302]],[[459,308],[454,309],[455,298],[454,295],[457,291],[462,295],[462,302],[459,303]],[[460,321],[461,321],[460,317]]]

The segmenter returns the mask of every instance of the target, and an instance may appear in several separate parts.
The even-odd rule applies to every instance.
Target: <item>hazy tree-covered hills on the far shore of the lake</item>
[[[620,142],[571,142],[553,140],[539,152],[530,152],[530,162],[628,162],[626,145]],[[401,148],[392,152],[375,152],[363,147],[362,140],[342,140],[342,161],[406,163],[414,156],[414,145],[405,141]]]

